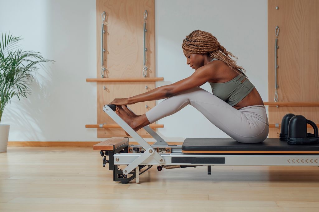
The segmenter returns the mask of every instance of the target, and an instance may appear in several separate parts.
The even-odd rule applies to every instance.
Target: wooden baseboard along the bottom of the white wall
[[[93,147],[100,141],[9,141],[8,146],[33,146],[33,147]],[[147,142],[152,145],[154,142]],[[183,142],[167,142],[169,145],[182,145]],[[138,145],[137,142],[129,142]]]

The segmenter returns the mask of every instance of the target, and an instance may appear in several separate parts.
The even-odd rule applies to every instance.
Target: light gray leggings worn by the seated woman
[[[268,136],[269,123],[265,106],[253,105],[237,110],[199,87],[168,97],[147,111],[145,115],[150,123],[154,123],[178,112],[188,104],[240,143],[260,143]]]

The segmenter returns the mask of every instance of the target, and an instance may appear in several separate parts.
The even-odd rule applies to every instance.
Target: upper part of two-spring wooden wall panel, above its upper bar
[[[147,77],[155,77],[154,0],[97,0],[97,78],[101,77],[101,13],[104,26],[104,67],[106,78],[143,77],[143,26],[146,21]]]

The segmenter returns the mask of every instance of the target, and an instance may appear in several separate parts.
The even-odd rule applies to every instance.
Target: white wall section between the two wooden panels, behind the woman
[[[156,74],[171,84],[193,73],[194,69],[186,64],[182,41],[190,32],[200,29],[212,33],[227,51],[238,57],[237,64],[246,69],[249,80],[266,102],[267,23],[267,0],[155,1]],[[211,92],[209,83],[201,88]],[[169,140],[230,138],[189,105],[157,123],[164,124],[159,132]]]

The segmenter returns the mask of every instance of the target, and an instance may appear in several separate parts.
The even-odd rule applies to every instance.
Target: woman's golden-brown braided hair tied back
[[[241,66],[237,66],[236,61],[231,59],[228,55],[238,59],[232,53],[227,52],[224,46],[221,46],[211,33],[195,30],[191,32],[183,40],[182,48],[185,52],[190,54],[203,54],[209,53],[211,58],[224,61],[231,69],[238,68],[246,73],[246,70]]]

